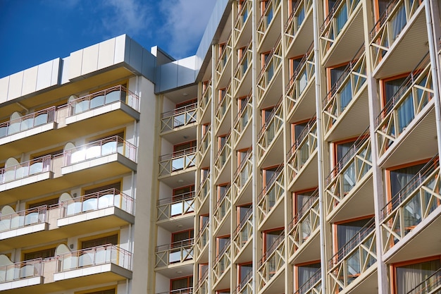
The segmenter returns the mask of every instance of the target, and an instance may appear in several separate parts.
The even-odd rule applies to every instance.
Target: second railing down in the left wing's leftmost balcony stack
[[[50,171],[51,162],[51,155],[45,155],[44,157],[39,157],[30,161],[25,161],[21,164],[0,169],[0,184]]]

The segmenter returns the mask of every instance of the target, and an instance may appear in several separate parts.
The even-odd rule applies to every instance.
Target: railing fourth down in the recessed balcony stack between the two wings
[[[155,267],[167,267],[170,264],[193,259],[193,241],[187,239],[156,247]]]

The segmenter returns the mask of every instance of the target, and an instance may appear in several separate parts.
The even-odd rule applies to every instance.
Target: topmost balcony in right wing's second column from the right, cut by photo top
[[[321,26],[320,47],[323,66],[347,61],[364,43],[363,1],[336,1]]]

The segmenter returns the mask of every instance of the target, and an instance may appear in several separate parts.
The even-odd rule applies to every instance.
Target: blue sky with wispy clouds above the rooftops
[[[0,0],[0,78],[128,34],[191,56],[216,0]]]

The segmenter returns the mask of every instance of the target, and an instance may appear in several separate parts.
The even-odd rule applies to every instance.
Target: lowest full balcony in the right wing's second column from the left
[[[219,250],[216,259],[213,262],[213,290],[226,289],[230,287],[230,269],[231,269],[231,242],[225,244]]]

